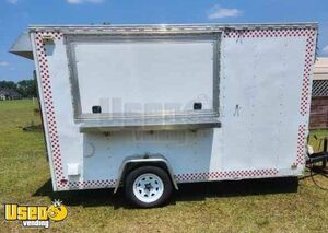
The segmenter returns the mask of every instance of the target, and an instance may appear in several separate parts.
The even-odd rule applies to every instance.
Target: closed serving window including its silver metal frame
[[[220,34],[66,39],[75,120],[174,125],[219,117]]]

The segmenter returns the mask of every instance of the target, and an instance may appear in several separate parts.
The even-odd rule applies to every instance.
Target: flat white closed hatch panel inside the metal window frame
[[[103,113],[192,110],[213,95],[210,40],[74,43],[74,54],[83,114],[94,105]]]

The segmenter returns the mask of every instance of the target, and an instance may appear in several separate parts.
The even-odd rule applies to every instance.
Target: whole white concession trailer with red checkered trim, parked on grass
[[[163,203],[180,183],[298,176],[316,23],[35,25],[54,190],[125,187]]]

